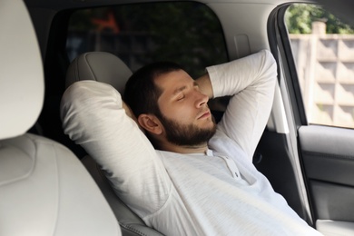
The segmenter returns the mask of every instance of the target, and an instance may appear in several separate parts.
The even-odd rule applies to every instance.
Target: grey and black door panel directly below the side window
[[[354,130],[302,126],[299,140],[315,219],[354,222]]]

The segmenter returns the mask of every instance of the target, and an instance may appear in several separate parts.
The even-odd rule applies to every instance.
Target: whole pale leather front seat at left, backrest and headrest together
[[[39,47],[22,0],[0,1],[0,235],[121,235],[67,148],[25,133],[44,102]]]

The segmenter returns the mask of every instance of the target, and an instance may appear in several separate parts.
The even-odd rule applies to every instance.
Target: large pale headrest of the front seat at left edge
[[[42,110],[44,74],[22,0],[0,1],[0,139],[25,133]]]

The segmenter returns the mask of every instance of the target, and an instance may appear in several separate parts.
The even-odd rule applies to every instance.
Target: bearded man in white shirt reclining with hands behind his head
[[[143,67],[126,84],[133,113],[111,86],[76,83],[64,94],[64,131],[163,234],[319,235],[251,163],[277,77],[270,52],[207,71],[194,81],[175,64]],[[215,124],[207,102],[224,95],[231,101]]]

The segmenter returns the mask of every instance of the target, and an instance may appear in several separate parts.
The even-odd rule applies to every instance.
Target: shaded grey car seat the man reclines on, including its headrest
[[[125,83],[131,75],[132,71],[117,56],[105,52],[89,52],[79,55],[69,65],[66,74],[66,87],[77,81],[93,80],[111,84],[118,92],[123,94]],[[113,192],[103,170],[93,161],[93,158],[86,155],[82,162],[111,205],[121,225],[123,235],[162,235],[160,232],[146,226],[143,220],[119,199]]]

